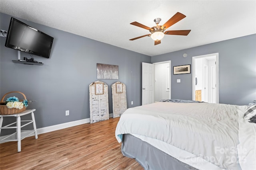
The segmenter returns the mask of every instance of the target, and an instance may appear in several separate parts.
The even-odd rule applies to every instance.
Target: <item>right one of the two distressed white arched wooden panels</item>
[[[120,88],[122,87],[122,89]],[[127,109],[126,86],[122,82],[115,82],[111,85],[113,100],[113,118],[120,117]]]

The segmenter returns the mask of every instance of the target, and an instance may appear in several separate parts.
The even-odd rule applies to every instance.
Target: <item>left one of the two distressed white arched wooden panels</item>
[[[103,84],[102,91],[95,89],[96,85]],[[99,86],[100,87],[100,86]],[[108,111],[108,85],[101,81],[89,85],[90,92],[90,123],[96,123],[109,119]]]

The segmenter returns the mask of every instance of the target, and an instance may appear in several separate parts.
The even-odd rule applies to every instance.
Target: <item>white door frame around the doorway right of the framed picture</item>
[[[219,53],[212,53],[212,54],[206,54],[206,55],[199,55],[192,57],[192,99],[196,99],[196,91],[195,91],[195,59],[199,58],[205,58],[215,56],[216,57],[216,103],[219,103]]]

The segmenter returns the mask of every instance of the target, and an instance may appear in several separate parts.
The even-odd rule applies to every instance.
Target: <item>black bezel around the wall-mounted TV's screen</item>
[[[47,56],[46,55],[42,55],[41,53],[38,53],[38,52],[35,52],[35,51],[31,51],[29,49],[28,49],[28,51],[23,51],[21,49],[16,49],[17,46],[10,44],[10,35],[12,35],[12,30],[13,30],[14,22],[21,23],[22,25],[25,25],[26,27],[30,27],[30,28],[34,29],[35,31],[37,31],[37,32],[39,32],[39,33],[49,37],[51,39],[51,44],[50,44],[50,48],[49,48],[50,50],[49,50],[48,55]],[[11,49],[15,49],[15,50],[18,50],[18,51],[22,51],[22,52],[25,52],[25,53],[34,54],[34,55],[37,55],[37,56],[49,59],[50,58],[50,53],[51,53],[51,50],[52,50],[53,39],[54,38],[51,37],[50,35],[42,32],[42,31],[40,31],[38,29],[35,29],[35,28],[31,27],[30,25],[28,25],[28,24],[26,24],[26,23],[24,23],[24,22],[22,22],[20,20],[17,20],[16,18],[12,17],[11,20],[10,20],[10,25],[9,25],[7,36],[6,36],[5,47],[11,48]]]

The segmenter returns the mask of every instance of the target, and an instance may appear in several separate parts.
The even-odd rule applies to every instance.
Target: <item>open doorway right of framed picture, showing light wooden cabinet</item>
[[[219,103],[218,53],[192,57],[193,100]]]

